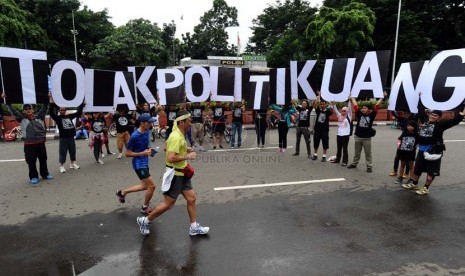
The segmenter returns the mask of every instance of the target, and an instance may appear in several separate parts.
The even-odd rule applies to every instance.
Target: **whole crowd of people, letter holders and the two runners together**
[[[5,94],[2,93],[2,98]],[[290,101],[286,105],[272,105],[270,108],[278,113],[278,153],[282,154],[287,150],[287,135],[289,128],[295,125],[296,147],[293,156],[300,154],[300,142],[303,135],[307,157],[311,160],[318,159],[320,143],[322,144],[321,161],[327,161],[327,150],[329,148],[329,117],[335,113],[337,116],[337,153],[330,158],[333,164],[347,166],[354,169],[361,159],[362,150],[365,153],[366,171],[371,173],[372,151],[371,140],[376,135],[373,122],[378,111],[378,106],[382,99],[374,105],[363,102],[361,106],[354,98],[351,98],[346,106],[340,109],[331,102],[326,102],[318,96],[314,101],[303,100]],[[66,157],[70,155],[70,169],[78,170],[80,166],[76,160],[75,140],[83,136],[89,141],[89,146],[93,151],[95,161],[104,164],[103,145],[106,146],[107,154],[115,154],[110,151],[108,144],[107,119],[112,119],[116,123],[118,159],[123,157],[123,148],[126,148],[125,156],[133,158],[132,166],[138,176],[140,183],[129,186],[125,189],[117,190],[116,196],[121,203],[125,203],[125,198],[133,192],[144,191],[145,196],[141,207],[141,212],[147,217],[138,217],[137,223],[142,234],[150,233],[150,221],[169,210],[176,202],[180,194],[187,201],[187,211],[189,214],[190,235],[206,234],[208,227],[201,226],[196,219],[196,195],[192,187],[191,177],[194,174],[192,166],[188,160],[196,159],[197,152],[205,151],[204,137],[206,123],[204,111],[205,105],[200,103],[182,104],[180,106],[152,106],[148,103],[141,104],[135,112],[130,113],[127,108],[119,106],[115,114],[93,112],[90,115],[82,113],[85,103],[77,107],[75,113],[67,114],[64,107],[58,107],[50,98],[50,104],[43,104],[38,112],[35,112],[30,104],[23,105],[23,112],[18,112],[7,104],[8,111],[16,116],[23,129],[25,160],[29,168],[29,179],[31,184],[39,182],[39,175],[43,179],[53,179],[47,167],[46,129],[44,124],[45,114],[50,112],[51,118],[55,121],[59,129],[59,171],[65,173]],[[211,109],[211,127],[213,133],[212,149],[222,149],[223,134],[226,125],[225,112],[232,111],[232,137],[231,148],[242,146],[243,116],[245,103],[235,102],[231,105],[221,102],[209,103]],[[157,153],[151,147],[150,130],[154,123],[158,121],[157,113],[165,110],[167,113],[167,126],[165,133],[165,165],[166,173],[163,177],[162,190],[163,201],[155,208],[150,206],[150,201],[154,194],[156,184],[149,171],[149,156]],[[316,113],[313,124],[310,122],[310,113]],[[428,111],[428,110],[427,110]],[[409,190],[416,190],[419,195],[429,193],[429,188],[436,176],[440,174],[442,152],[445,150],[443,133],[445,130],[457,125],[464,118],[465,109],[456,111],[451,119],[440,120],[442,112],[432,110],[423,116],[410,114],[407,112],[393,112],[400,128],[401,135],[398,137],[398,146],[394,160],[394,170],[391,176],[398,176],[395,180],[397,184]],[[353,114],[355,118],[353,118]],[[258,148],[265,145],[266,129],[270,126],[267,120],[270,118],[268,110],[255,110],[253,122],[255,124]],[[355,125],[352,120],[357,122]],[[79,127],[75,126],[73,120],[79,121]],[[313,127],[311,127],[313,125]],[[311,134],[313,133],[313,154],[311,152]],[[349,164],[348,145],[350,136],[354,135],[354,156]],[[237,136],[237,138],[236,138]],[[190,146],[188,146],[188,142]],[[36,162],[39,160],[39,171]],[[400,165],[399,165],[400,164]],[[424,185],[419,185],[419,178],[422,173],[426,173]]]

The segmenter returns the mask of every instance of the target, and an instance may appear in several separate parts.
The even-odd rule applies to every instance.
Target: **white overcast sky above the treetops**
[[[252,19],[256,18],[269,5],[275,5],[276,0],[226,0],[228,6],[237,8],[239,27],[227,28],[228,42],[237,45],[240,38],[241,51],[245,49],[248,39],[252,36]],[[284,0],[282,1],[284,2]],[[322,0],[308,0],[312,6],[321,6]],[[152,23],[176,23],[176,37],[181,34],[193,33],[194,26],[200,23],[200,17],[213,7],[213,0],[81,0],[94,12],[108,10],[110,21],[116,27],[125,25],[131,19],[144,18]],[[182,20],[181,20],[182,18]]]

